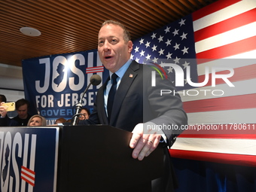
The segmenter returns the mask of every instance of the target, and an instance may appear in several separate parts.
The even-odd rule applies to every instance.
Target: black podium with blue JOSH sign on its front
[[[0,127],[1,191],[122,191],[163,175],[163,148],[135,160],[131,137],[105,125]]]

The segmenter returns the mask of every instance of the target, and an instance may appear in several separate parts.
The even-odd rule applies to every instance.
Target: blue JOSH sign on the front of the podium
[[[58,146],[59,127],[0,127],[0,191],[56,191]]]

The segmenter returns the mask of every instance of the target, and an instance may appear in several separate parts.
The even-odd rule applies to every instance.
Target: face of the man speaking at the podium
[[[133,43],[125,43],[123,29],[120,26],[107,24],[99,30],[99,59],[109,71],[117,72],[130,59],[132,50]]]

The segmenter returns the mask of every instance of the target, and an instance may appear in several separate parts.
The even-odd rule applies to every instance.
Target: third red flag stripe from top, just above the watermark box
[[[256,36],[197,53],[197,59],[221,59],[255,50]],[[200,64],[200,63],[198,63]]]

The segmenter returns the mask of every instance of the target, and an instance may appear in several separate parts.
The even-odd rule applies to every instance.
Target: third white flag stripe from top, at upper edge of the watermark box
[[[251,56],[254,54],[256,56],[256,50],[251,51]],[[248,55],[248,54],[246,54]],[[197,65],[197,74],[200,75],[205,75],[206,74],[206,66],[209,67],[209,73],[212,73],[211,69],[212,67],[218,68],[225,68],[226,69],[236,69],[239,67],[244,67],[244,66],[251,66],[256,64],[256,58],[254,59],[216,59],[214,61],[210,62],[204,62],[202,64]],[[224,70],[219,70],[219,71],[224,71]]]

